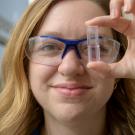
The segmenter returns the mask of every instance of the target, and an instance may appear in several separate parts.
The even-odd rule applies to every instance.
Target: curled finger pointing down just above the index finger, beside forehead
[[[110,15],[112,18],[118,18],[121,16],[121,8],[123,4],[124,4],[123,0],[110,1]]]

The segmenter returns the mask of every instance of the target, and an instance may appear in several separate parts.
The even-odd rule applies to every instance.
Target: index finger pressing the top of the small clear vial
[[[124,19],[122,17],[117,19],[112,19],[110,16],[99,16],[92,20],[89,20],[85,23],[86,25],[97,25],[101,27],[110,27],[120,33],[123,33],[127,36],[131,36],[133,30],[131,28],[131,21]]]

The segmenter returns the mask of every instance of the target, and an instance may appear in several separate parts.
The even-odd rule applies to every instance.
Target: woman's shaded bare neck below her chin
[[[100,114],[100,115],[99,115]],[[46,130],[45,130],[46,129]],[[105,135],[105,109],[98,115],[59,121],[45,113],[42,135]]]

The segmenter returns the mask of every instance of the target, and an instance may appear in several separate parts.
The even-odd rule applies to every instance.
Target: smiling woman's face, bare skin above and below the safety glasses
[[[86,37],[85,21],[101,15],[105,12],[92,1],[61,1],[49,11],[37,35],[82,39]],[[112,35],[107,28],[100,32]],[[104,114],[114,86],[114,80],[100,78],[82,65],[73,49],[57,67],[30,62],[29,80],[45,114],[59,120]]]

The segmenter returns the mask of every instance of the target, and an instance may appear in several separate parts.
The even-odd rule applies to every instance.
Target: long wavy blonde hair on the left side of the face
[[[29,90],[24,50],[33,29],[52,1],[39,0],[32,3],[7,44],[2,65],[4,87],[0,94],[1,135],[29,135],[41,122],[37,118],[42,118],[40,107]]]

